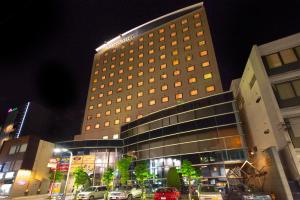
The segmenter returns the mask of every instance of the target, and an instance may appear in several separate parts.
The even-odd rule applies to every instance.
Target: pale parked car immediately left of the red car
[[[133,198],[142,197],[142,190],[138,187],[132,186],[121,186],[115,190],[109,192],[108,197],[110,200],[113,199],[127,199],[132,200]]]

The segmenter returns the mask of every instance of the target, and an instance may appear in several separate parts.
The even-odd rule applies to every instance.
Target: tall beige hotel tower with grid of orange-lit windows
[[[122,124],[219,92],[222,84],[200,3],[97,48],[82,132],[75,140],[117,139]]]

